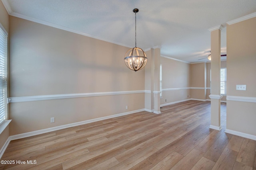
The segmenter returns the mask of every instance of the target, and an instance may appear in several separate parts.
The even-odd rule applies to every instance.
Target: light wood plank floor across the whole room
[[[187,101],[11,141],[0,169],[255,170],[256,141],[209,129],[210,102]],[[36,160],[36,164],[27,164]]]

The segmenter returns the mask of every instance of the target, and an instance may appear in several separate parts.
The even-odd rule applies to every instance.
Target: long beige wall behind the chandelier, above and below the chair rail
[[[124,64],[127,50],[10,16],[10,97],[144,90],[144,69],[134,72]],[[144,98],[140,93],[10,103],[10,135],[144,109]]]

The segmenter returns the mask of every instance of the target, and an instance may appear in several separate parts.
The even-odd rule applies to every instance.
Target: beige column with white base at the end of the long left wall
[[[154,113],[159,114],[160,111],[160,48],[154,49]]]

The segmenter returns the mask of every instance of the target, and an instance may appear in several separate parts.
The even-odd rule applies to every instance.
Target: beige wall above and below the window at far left
[[[9,32],[9,15],[0,1],[0,23],[3,25],[4,29]],[[9,118],[9,116],[8,116]],[[9,137],[9,125],[5,128],[5,130],[0,133],[0,149],[4,146],[4,143]]]

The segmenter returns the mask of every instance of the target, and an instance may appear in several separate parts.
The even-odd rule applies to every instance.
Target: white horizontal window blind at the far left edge
[[[7,119],[7,34],[0,25],[0,125]]]

